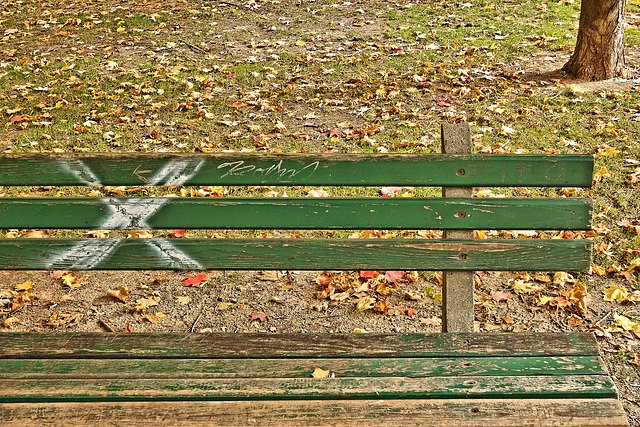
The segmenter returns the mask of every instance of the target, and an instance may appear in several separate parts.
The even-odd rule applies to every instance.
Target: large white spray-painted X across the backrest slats
[[[99,178],[81,160],[58,159],[60,164],[80,182],[88,186],[100,186]],[[149,179],[149,186],[180,186],[191,179],[204,165],[205,160],[170,160]],[[100,224],[103,229],[148,229],[147,220],[167,203],[166,198],[148,198],[144,200],[105,199],[108,216]],[[116,250],[121,239],[82,240],[62,253],[55,254],[46,261],[47,269],[93,269]],[[176,269],[203,270],[204,267],[167,240],[149,239],[145,244],[160,257],[170,261]]]

